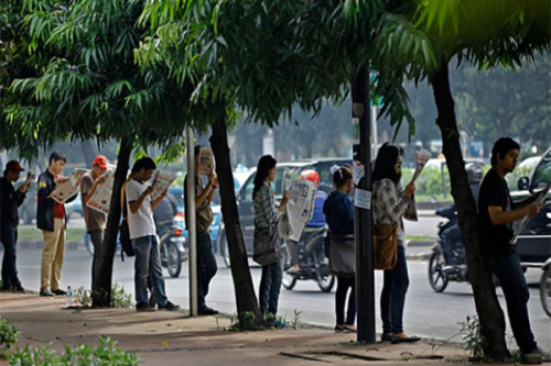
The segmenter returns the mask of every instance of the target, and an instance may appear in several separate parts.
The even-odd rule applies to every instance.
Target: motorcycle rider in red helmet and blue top
[[[312,219],[306,223],[304,231],[302,233],[301,240],[303,243],[307,243],[311,237],[313,237],[320,230],[325,228],[325,214],[323,213],[323,204],[327,199],[327,193],[321,189],[320,187],[320,175],[314,169],[304,169],[301,173],[301,179],[310,180],[314,184],[316,188],[314,195],[314,210],[312,214]],[[321,241],[320,241],[321,243]],[[315,243],[310,244],[312,246]],[[287,270],[288,274],[298,274],[301,271],[301,267],[299,264],[299,242],[293,240],[289,240],[289,254],[291,256],[291,268]],[[311,251],[311,247],[305,248],[306,252]]]

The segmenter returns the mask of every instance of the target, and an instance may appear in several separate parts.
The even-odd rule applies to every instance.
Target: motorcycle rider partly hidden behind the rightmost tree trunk
[[[475,203],[478,204],[478,191],[480,190],[480,180],[483,177],[483,171],[480,165],[476,163],[469,163],[465,166],[465,170],[467,171],[468,185],[471,187],[471,191],[473,192],[473,197],[475,199]],[[452,209],[454,212],[456,211],[455,204],[453,204]],[[456,220],[456,213],[455,213]],[[453,257],[453,247],[456,243],[463,243],[463,237],[461,235],[461,229],[457,221],[453,223],[450,228],[442,231],[442,249],[444,252],[444,258],[447,266],[460,265],[462,263],[456,263],[456,258]],[[465,258],[462,259],[462,262]],[[444,268],[445,269],[445,268]]]

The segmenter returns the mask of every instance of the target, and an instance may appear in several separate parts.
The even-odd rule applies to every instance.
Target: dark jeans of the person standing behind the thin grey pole
[[[206,307],[208,285],[217,270],[210,233],[197,233],[197,308],[199,310]]]

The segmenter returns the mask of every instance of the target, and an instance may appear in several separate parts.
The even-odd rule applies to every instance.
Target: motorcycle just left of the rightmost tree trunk
[[[468,281],[468,270],[455,206],[440,208],[436,214],[447,221],[439,223],[439,239],[429,260],[429,282],[434,291],[442,292],[449,281]],[[444,241],[452,243],[447,253],[444,251]]]

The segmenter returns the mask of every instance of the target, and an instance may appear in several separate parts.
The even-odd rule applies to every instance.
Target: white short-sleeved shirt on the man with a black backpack
[[[127,197],[128,228],[130,239],[155,235],[155,222],[153,221],[153,210],[151,210],[151,195],[148,195],[138,211],[130,211],[130,202],[138,201],[141,193],[148,188],[147,185],[130,179],[127,184],[125,195]]]

